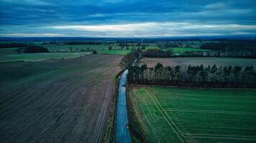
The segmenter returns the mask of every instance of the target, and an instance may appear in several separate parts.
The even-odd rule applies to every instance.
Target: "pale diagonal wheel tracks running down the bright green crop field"
[[[150,97],[152,98],[152,100],[155,102],[157,108],[160,110],[160,113],[161,113],[161,114],[163,115],[163,117],[165,118],[165,121],[168,122],[169,126],[173,129],[173,131],[175,132],[175,134],[178,135],[178,138],[179,138],[183,143],[188,142],[188,140],[187,140],[186,137],[184,136],[183,132],[181,132],[180,129],[178,129],[178,127],[174,124],[174,122],[170,119],[170,117],[168,117],[168,114],[166,114],[166,112],[165,112],[165,114],[163,114],[162,110],[164,110],[164,109],[163,109],[163,107],[160,105],[160,103],[157,101],[156,97],[152,94],[152,91],[150,90],[150,87],[146,87],[146,89],[147,89],[147,92],[149,92]],[[170,122],[172,122],[173,125],[168,121],[168,119],[166,118],[166,116],[170,119]],[[175,129],[173,126],[174,126],[178,131],[176,131],[176,129]],[[181,135],[183,138],[180,137],[180,135]],[[185,140],[185,142],[184,142],[184,140]]]

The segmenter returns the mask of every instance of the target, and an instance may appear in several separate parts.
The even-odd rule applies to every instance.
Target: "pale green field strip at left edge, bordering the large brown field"
[[[43,61],[46,59],[69,59],[85,56],[91,52],[63,52],[63,53],[35,53],[35,54],[6,54],[0,56],[0,62],[4,61]]]

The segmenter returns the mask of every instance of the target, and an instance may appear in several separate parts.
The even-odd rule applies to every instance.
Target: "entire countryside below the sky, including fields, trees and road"
[[[1,41],[0,141],[255,142],[248,44]]]

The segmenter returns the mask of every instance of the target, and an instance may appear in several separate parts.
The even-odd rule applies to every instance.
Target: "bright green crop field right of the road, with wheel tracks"
[[[148,142],[256,142],[256,90],[133,86]]]

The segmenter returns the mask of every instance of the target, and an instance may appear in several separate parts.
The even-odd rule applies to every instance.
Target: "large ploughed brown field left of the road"
[[[0,142],[102,142],[122,56],[0,64]]]

